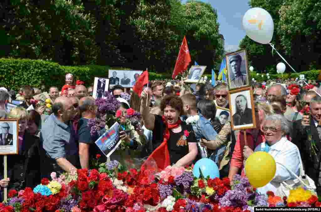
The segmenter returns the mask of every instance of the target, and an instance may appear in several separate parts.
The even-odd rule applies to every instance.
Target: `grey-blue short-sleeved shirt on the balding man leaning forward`
[[[74,129],[51,114],[41,128],[43,148],[52,159],[78,154]]]

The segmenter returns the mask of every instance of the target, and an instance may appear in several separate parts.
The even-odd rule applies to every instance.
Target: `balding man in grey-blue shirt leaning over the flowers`
[[[78,145],[71,119],[76,109],[70,98],[61,96],[52,105],[52,114],[41,129],[40,140],[46,151],[46,177],[55,171],[58,175],[80,167]]]

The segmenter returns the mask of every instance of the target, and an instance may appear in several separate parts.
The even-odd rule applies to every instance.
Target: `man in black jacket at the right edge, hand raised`
[[[305,167],[305,174],[311,177],[317,186],[317,194],[321,195],[320,161],[321,161],[321,97],[317,95],[311,100],[310,115],[303,115],[295,121],[293,131],[296,134],[292,142],[299,148]]]

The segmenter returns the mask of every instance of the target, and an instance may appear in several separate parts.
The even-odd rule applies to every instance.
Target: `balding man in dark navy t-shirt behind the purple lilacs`
[[[95,145],[99,135],[96,133],[92,136],[90,134],[91,128],[88,126],[88,120],[96,118],[95,99],[91,96],[81,98],[79,101],[79,111],[82,115],[77,126],[80,164],[82,168],[89,169],[89,159],[100,153],[97,145]]]

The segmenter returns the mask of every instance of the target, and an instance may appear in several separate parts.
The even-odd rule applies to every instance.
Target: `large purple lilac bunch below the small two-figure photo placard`
[[[114,114],[120,106],[120,102],[108,91],[105,92],[104,98],[96,99],[97,112],[105,115]]]

